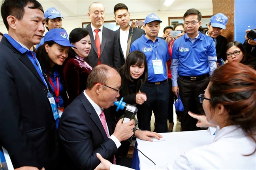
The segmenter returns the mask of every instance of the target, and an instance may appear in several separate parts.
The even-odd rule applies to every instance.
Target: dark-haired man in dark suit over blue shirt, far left
[[[5,0],[1,15],[8,34],[0,42],[0,146],[14,168],[55,170],[58,143],[49,83],[29,50],[45,31],[43,8],[36,0]]]

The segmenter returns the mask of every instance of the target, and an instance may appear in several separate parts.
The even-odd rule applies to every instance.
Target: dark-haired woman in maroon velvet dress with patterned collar
[[[92,67],[84,60],[91,50],[89,32],[83,28],[75,28],[71,31],[69,40],[77,49],[70,48],[68,59],[63,68],[69,97],[68,104],[86,89],[87,78],[92,70]]]

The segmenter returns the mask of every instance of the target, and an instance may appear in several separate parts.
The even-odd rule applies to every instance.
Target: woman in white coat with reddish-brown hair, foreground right
[[[200,99],[207,122],[217,126],[213,142],[151,169],[255,169],[256,70],[234,62],[216,68]],[[130,170],[97,157],[96,170]]]

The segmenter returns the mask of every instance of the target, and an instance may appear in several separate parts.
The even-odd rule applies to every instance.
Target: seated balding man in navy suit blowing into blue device
[[[115,124],[107,108],[119,97],[120,87],[121,78],[114,68],[98,65],[92,69],[87,89],[68,105],[60,119],[62,170],[93,170],[100,163],[96,153],[113,163],[120,141],[133,134],[149,141],[149,136],[160,139],[157,133],[135,131],[133,119],[124,124],[120,119]]]

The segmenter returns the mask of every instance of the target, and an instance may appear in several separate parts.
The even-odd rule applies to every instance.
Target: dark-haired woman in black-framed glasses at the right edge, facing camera
[[[228,62],[243,63],[256,69],[256,57],[248,54],[241,42],[229,42],[226,46],[226,56]]]

